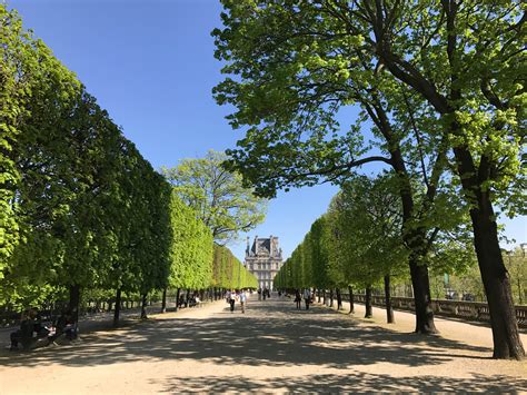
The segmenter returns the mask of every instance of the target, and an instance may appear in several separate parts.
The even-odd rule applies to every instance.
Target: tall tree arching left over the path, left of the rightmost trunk
[[[448,185],[443,176],[447,146],[435,136],[425,144],[420,129],[434,130],[437,122],[424,100],[380,75],[371,57],[349,52],[346,40],[356,38],[334,34],[339,21],[318,18],[310,2],[259,10],[251,2],[225,4],[228,28],[215,31],[216,55],[228,61],[223,71],[242,76],[242,81],[227,78],[216,88],[216,98],[238,109],[229,116],[235,128],[249,126],[239,148],[228,151],[230,168],[257,194],[275,196],[279,188],[339,184],[365,164],[389,165],[399,177],[404,238],[411,250],[416,332],[436,333],[426,257],[437,235],[430,220],[435,199]],[[356,79],[347,71],[349,62],[361,68]],[[355,102],[364,111],[342,132],[337,112]],[[364,144],[360,127],[368,118],[374,137]],[[415,179],[424,187],[416,187]]]

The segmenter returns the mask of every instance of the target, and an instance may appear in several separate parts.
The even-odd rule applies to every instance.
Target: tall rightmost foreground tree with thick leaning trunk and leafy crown
[[[321,1],[365,51],[437,112],[448,136],[489,304],[494,356],[523,358],[496,205],[525,210],[525,8],[520,1]]]

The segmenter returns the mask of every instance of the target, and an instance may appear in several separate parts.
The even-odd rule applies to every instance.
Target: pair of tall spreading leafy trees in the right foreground
[[[419,333],[436,332],[430,248],[467,217],[494,356],[523,358],[496,223],[527,207],[523,2],[222,3],[213,36],[229,77],[215,96],[247,127],[230,168],[260,196],[341,184],[371,162],[394,171]],[[341,125],[349,106],[360,113]]]

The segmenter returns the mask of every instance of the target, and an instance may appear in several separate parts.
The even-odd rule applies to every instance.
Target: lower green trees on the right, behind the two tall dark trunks
[[[391,179],[390,179],[391,177]],[[331,289],[339,297],[340,289],[354,295],[354,289],[366,289],[366,312],[371,315],[371,293],[384,287],[387,320],[394,322],[392,289],[408,285],[408,250],[401,238],[401,207],[392,194],[392,175],[378,178],[356,177],[346,182],[332,199],[328,211],[318,218],[277,274],[275,284],[285,289],[315,287]],[[467,233],[440,230],[430,247],[430,284],[435,298],[456,292],[486,300],[476,257]],[[465,240],[461,243],[461,240]],[[516,303],[525,300],[527,268],[525,253],[506,254]],[[405,292],[397,296],[408,296]],[[411,283],[410,283],[410,294]],[[352,309],[352,305],[350,306]]]

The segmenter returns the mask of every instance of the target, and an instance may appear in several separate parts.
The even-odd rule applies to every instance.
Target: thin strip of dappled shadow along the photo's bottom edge
[[[287,376],[268,379],[247,378],[245,376],[217,377],[171,377],[165,384],[163,392],[265,392],[281,393],[370,393],[370,392],[496,392],[521,393],[527,391],[527,381],[509,376],[475,375],[471,378],[451,378],[437,376],[406,376],[367,374],[350,372],[346,375]]]

